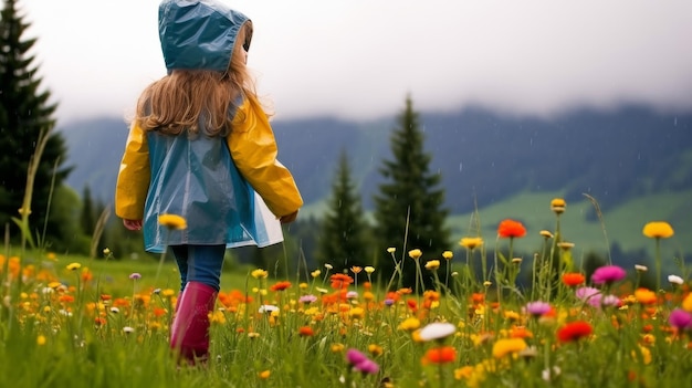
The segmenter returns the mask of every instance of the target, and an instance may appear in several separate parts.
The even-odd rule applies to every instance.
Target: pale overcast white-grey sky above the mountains
[[[692,1],[228,0],[275,118],[625,102],[692,109]],[[132,113],[165,75],[158,0],[18,0],[59,125]]]

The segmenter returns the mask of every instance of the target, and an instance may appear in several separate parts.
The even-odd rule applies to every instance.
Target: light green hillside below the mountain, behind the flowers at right
[[[522,192],[499,203],[479,209],[481,234],[485,241],[494,243],[496,227],[505,218],[522,221],[528,230],[526,242],[520,248],[539,247],[541,230],[555,230],[556,218],[549,210],[553,198],[562,197],[560,192]],[[662,244],[662,256],[672,259],[682,252],[692,251],[692,190],[651,195],[623,201],[602,214],[599,220],[591,221],[588,214],[594,212],[594,205],[585,197],[578,202],[567,203],[567,211],[560,216],[563,237],[575,243],[576,256],[589,251],[606,254],[611,244],[617,243],[622,251],[640,251],[653,255],[653,242],[641,233],[643,226],[650,221],[670,222],[675,235]],[[596,199],[598,200],[598,199]],[[454,235],[473,234],[470,227],[472,213],[458,214],[450,218]],[[642,258],[644,260],[646,258]]]

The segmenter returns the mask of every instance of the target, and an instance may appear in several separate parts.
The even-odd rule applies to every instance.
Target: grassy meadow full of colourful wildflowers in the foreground
[[[397,272],[389,287],[373,283],[375,266],[334,273],[326,264],[296,280],[248,271],[244,284],[219,293],[211,356],[193,366],[170,354],[178,290],[157,287],[160,268],[145,285],[146,274],[93,272],[88,260],[0,254],[0,385],[689,386],[692,294],[684,260],[679,274],[661,281],[662,262],[671,259],[661,258],[660,245],[672,227],[643,226],[642,239],[656,244],[651,270],[606,263],[587,273],[563,238],[565,201],[554,199],[549,209],[552,231],[500,222],[491,256],[480,235],[460,237],[457,255],[384,252],[397,270],[415,263],[417,280],[432,276],[430,290],[417,292],[418,281],[397,286]],[[532,237],[543,249],[516,258]],[[526,268],[530,282],[522,284]],[[640,284],[649,271],[650,289]]]

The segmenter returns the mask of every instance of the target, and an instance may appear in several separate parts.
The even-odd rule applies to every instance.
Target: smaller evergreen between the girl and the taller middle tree
[[[317,261],[321,264],[332,264],[335,272],[369,264],[365,256],[366,228],[348,158],[346,151],[342,150],[332,186],[329,209],[322,221]]]

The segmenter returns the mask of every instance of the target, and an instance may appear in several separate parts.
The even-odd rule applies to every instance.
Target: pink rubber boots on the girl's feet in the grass
[[[170,348],[180,360],[193,365],[205,361],[209,353],[209,313],[217,291],[203,283],[189,282],[179,296],[178,310],[170,325]]]

